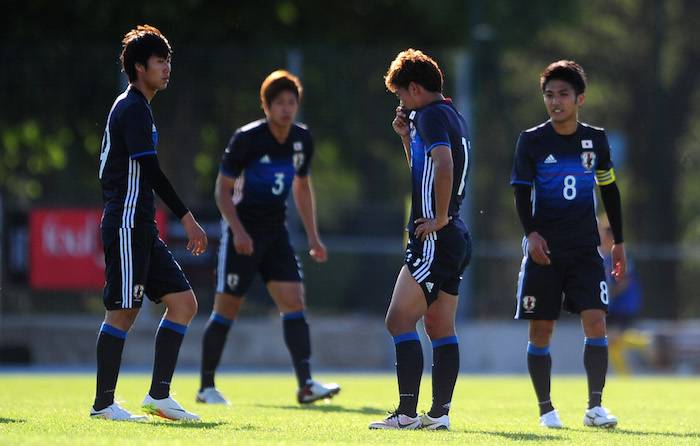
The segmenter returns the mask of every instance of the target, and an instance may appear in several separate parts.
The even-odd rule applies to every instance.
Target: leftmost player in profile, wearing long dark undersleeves
[[[97,337],[97,393],[93,418],[141,420],[114,401],[122,350],[144,297],[163,302],[165,314],[155,339],[151,388],[144,412],[172,420],[199,420],[170,395],[180,345],[197,299],[180,266],[158,237],[155,193],[182,222],[187,249],[199,255],[207,236],[178,197],[158,162],[158,132],[150,101],[168,86],[170,44],[156,28],[138,26],[123,40],[122,67],[129,86],[107,118],[99,178],[104,199],[102,245],[105,255],[103,300],[107,312]]]

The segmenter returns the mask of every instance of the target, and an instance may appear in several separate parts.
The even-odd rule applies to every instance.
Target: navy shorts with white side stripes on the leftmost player
[[[155,226],[102,228],[108,310],[141,308],[143,297],[155,303],[167,294],[191,289]]]

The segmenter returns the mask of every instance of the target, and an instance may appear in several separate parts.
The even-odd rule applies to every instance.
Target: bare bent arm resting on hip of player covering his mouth
[[[452,195],[452,150],[448,146],[436,146],[430,150],[435,166],[435,218],[418,218],[416,223],[416,237],[425,240],[428,234],[442,229],[450,219],[447,210],[450,206]]]

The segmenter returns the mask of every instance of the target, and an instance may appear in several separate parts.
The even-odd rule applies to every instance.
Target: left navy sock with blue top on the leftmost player
[[[114,390],[119,378],[119,367],[126,332],[105,323],[97,336],[97,391],[95,392],[95,410],[102,410],[114,403]]]

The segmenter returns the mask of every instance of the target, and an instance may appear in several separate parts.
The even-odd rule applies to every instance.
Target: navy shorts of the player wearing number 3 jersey
[[[240,255],[233,246],[231,228],[222,222],[216,266],[217,293],[243,297],[257,273],[265,283],[302,281],[301,264],[286,230],[249,235],[253,240],[253,255]]]

